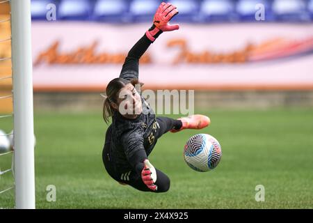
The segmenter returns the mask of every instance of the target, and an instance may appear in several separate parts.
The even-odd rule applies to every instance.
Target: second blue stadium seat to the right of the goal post
[[[93,12],[93,1],[62,0],[58,8],[58,18],[61,20],[88,20]]]

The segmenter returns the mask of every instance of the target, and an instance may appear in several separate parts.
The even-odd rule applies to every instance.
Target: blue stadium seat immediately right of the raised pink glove
[[[195,0],[170,1],[179,10],[179,15],[172,18],[171,22],[198,22],[200,3]]]

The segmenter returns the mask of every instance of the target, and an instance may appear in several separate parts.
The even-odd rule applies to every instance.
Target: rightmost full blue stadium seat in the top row
[[[275,20],[284,22],[310,21],[304,0],[274,0],[272,5]]]

